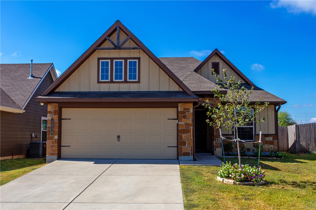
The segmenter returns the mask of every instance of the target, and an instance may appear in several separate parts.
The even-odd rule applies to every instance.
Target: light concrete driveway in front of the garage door
[[[60,159],[0,187],[1,209],[184,209],[177,160]]]

